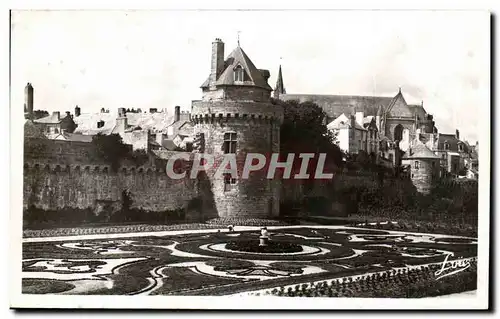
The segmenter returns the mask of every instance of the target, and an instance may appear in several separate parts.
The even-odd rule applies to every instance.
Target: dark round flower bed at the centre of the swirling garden
[[[266,246],[259,246],[259,242],[255,240],[231,241],[226,244],[226,249],[246,253],[263,254],[298,253],[303,250],[302,246],[298,244],[272,240],[269,241]]]

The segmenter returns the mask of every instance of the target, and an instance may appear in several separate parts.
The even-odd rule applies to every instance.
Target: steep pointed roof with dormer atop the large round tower
[[[238,46],[236,49],[229,54],[226,61],[224,62],[224,71],[219,75],[215,85],[244,85],[244,86],[256,86],[269,91],[272,88],[269,86],[267,81],[262,76],[261,71],[259,71],[250,58],[247,56],[245,51]],[[240,65],[245,71],[245,80],[242,84],[234,82],[234,69]],[[202,88],[208,87],[210,84],[210,78],[207,79],[203,84]]]

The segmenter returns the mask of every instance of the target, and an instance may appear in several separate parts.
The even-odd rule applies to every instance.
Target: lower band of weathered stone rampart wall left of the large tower
[[[36,164],[35,164],[36,165]],[[192,180],[176,181],[152,169],[112,173],[106,167],[31,166],[24,169],[23,207],[45,210],[95,208],[98,201],[121,202],[129,190],[133,208],[166,211],[183,208],[196,197]]]

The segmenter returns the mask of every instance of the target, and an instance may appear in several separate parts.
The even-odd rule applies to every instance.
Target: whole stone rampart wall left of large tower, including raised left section
[[[99,201],[121,202],[130,191],[133,208],[167,211],[198,197],[197,180],[170,179],[165,167],[121,167],[117,172],[95,155],[91,143],[38,140],[24,160],[23,206],[45,210],[91,208]]]

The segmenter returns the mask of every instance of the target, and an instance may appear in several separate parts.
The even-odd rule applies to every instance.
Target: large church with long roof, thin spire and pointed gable
[[[437,133],[433,116],[428,114],[421,104],[408,104],[399,89],[393,96],[358,96],[358,95],[324,95],[324,94],[287,94],[280,73],[274,90],[274,97],[283,101],[297,100],[299,102],[313,102],[321,107],[327,117],[328,123],[339,118],[342,114],[349,116],[356,114],[357,122],[361,126],[375,121],[377,135],[369,138],[366,136],[352,135],[350,144],[359,144],[368,151],[369,144],[379,162],[391,162],[392,166],[400,166],[403,154],[408,150],[410,141],[415,139],[418,129],[422,132]],[[362,117],[362,119],[360,118]],[[364,145],[367,145],[365,147]]]

